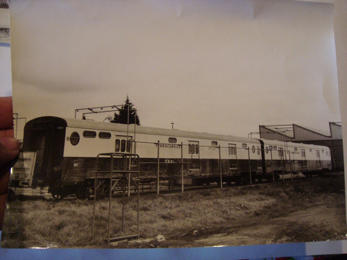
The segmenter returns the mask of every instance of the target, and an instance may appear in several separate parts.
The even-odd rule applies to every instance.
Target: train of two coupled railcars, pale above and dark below
[[[43,116],[26,123],[23,151],[36,151],[32,187],[49,187],[53,197],[85,196],[92,189],[96,156],[136,153],[142,180],[160,177],[180,184],[249,183],[281,173],[311,175],[331,170],[325,146],[212,135],[138,125]],[[183,162],[183,167],[182,167]]]

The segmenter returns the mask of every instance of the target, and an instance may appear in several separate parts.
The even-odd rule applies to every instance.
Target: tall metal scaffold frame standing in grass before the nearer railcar
[[[92,236],[95,234],[96,202],[98,198],[109,197],[108,200],[108,245],[110,243],[139,238],[139,155],[133,153],[101,153],[96,157],[96,172],[94,179],[94,208]],[[127,183],[133,184],[137,193],[137,234],[111,237],[112,196],[115,191],[121,191],[121,230],[124,232],[125,194]],[[130,185],[128,185],[130,190]]]

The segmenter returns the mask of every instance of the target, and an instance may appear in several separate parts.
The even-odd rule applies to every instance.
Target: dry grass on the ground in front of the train
[[[153,239],[158,234],[164,235],[168,240],[178,239],[182,234],[194,230],[217,230],[221,227],[235,229],[252,223],[271,222],[271,219],[321,205],[328,200],[331,207],[344,209],[344,201],[332,200],[332,194],[344,198],[343,189],[341,180],[314,178],[312,182],[306,183],[294,181],[161,196],[146,195],[140,199],[139,232],[145,239]],[[124,232],[121,231],[121,207],[121,198],[112,199],[112,236],[136,234],[136,198],[126,199]],[[92,211],[93,201],[90,200],[56,202],[43,198],[19,198],[8,203],[2,247],[105,248],[108,200],[97,202],[94,239]],[[298,232],[303,230],[300,227]],[[341,232],[345,233],[345,230]],[[294,233],[291,230],[288,234],[281,235],[279,240],[283,240],[283,237],[292,238]],[[273,237],[268,240],[276,242]]]

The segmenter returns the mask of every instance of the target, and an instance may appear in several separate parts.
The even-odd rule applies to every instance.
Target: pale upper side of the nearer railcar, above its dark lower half
[[[189,146],[198,146],[197,153],[194,153],[198,159],[218,159],[219,149],[221,159],[236,159],[236,156],[246,159],[248,148],[257,151],[249,153],[250,159],[260,159],[261,156],[257,139],[78,119],[65,121],[64,157],[96,157],[99,153],[126,152],[121,146],[127,139],[135,144],[130,152],[140,157],[158,157],[159,146],[160,157],[180,158],[181,144],[183,155],[190,156]]]

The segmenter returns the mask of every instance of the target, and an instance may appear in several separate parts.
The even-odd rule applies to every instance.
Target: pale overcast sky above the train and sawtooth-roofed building
[[[159,128],[246,137],[341,121],[330,4],[15,0],[10,12],[14,112],[28,120],[128,95]]]

